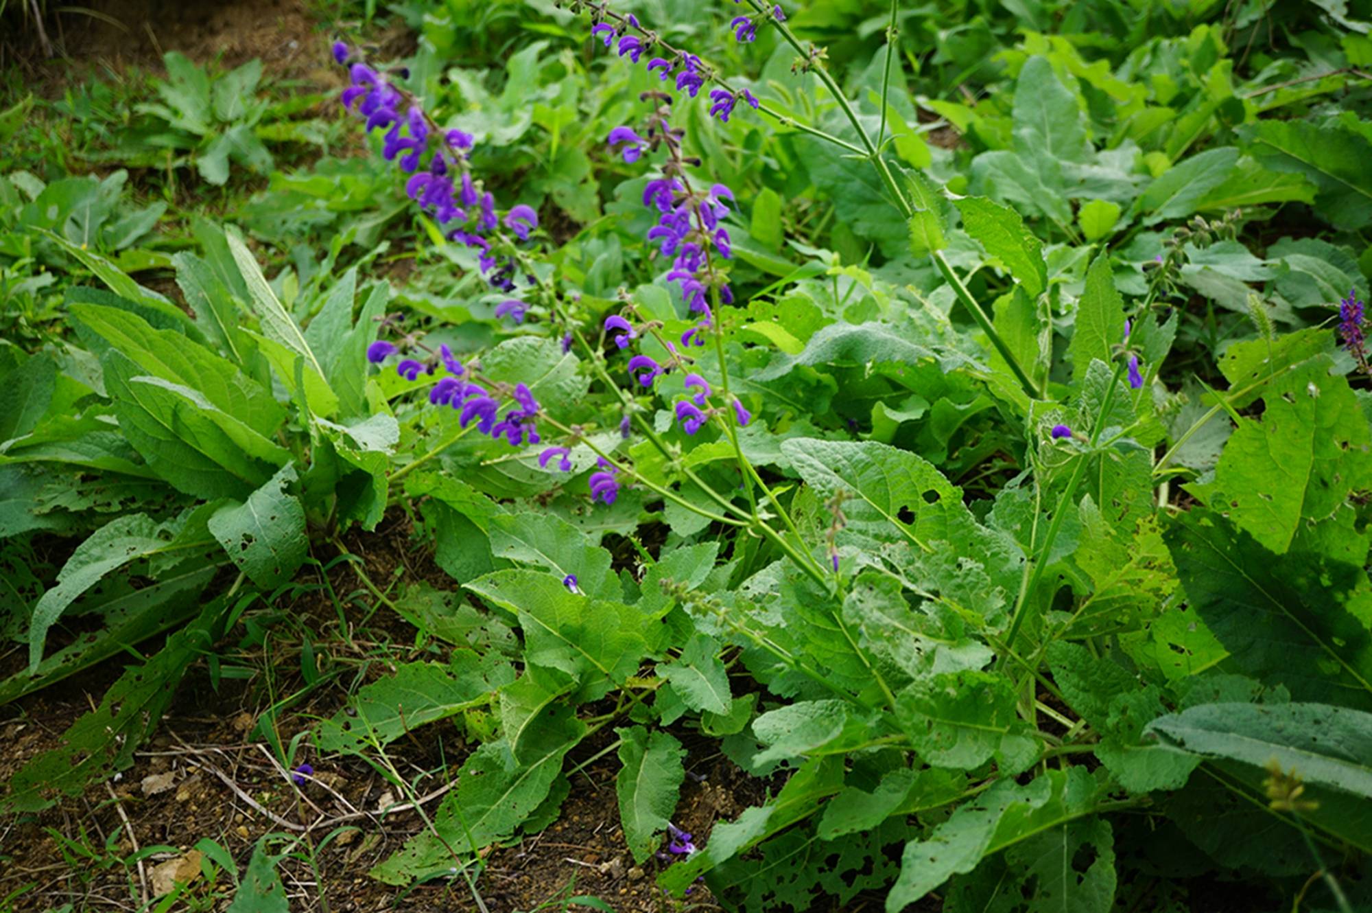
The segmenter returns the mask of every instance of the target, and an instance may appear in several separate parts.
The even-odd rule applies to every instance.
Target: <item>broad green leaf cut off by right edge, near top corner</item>
[[[1262,119],[1238,128],[1249,151],[1275,172],[1303,174],[1320,189],[1314,211],[1335,228],[1372,224],[1372,141],[1343,124]]]

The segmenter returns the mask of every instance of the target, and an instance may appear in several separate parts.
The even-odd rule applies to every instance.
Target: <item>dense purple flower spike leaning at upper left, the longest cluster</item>
[[[493,287],[512,291],[514,261],[502,261],[493,254],[488,235],[504,224],[519,240],[528,240],[530,232],[538,228],[538,213],[531,206],[519,205],[501,220],[495,198],[479,191],[472,181],[468,154],[473,137],[462,130],[435,130],[423,108],[384,76],[361,60],[348,65],[355,56],[347,44],[335,43],[333,59],[348,66],[350,85],[343,89],[343,107],[366,118],[368,132],[387,128],[381,155],[387,161],[399,157],[401,170],[412,174],[405,183],[409,198],[434,217],[449,240],[479,251],[482,275]],[[420,170],[434,136],[439,137],[439,148],[429,157],[428,166]]]

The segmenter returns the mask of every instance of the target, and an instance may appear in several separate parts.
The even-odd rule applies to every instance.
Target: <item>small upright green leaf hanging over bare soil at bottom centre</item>
[[[642,865],[653,855],[659,833],[667,829],[676,811],[686,769],[686,750],[671,733],[648,732],[642,726],[616,729],[620,739],[615,776],[619,795],[619,820],[624,825],[624,843],[634,861]]]

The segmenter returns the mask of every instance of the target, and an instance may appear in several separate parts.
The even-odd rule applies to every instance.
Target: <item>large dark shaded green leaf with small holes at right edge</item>
[[[1297,700],[1372,710],[1372,633],[1349,604],[1365,556],[1276,556],[1202,509],[1179,515],[1165,538],[1191,608],[1238,670]]]

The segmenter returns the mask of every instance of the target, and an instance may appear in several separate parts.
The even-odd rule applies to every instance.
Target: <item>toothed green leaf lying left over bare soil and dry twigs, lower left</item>
[[[395,673],[358,689],[346,710],[320,724],[321,751],[362,754],[387,746],[418,726],[446,719],[491,700],[498,667],[472,651],[457,651],[449,666],[402,663]]]

